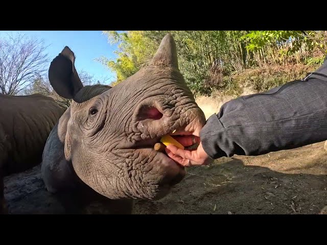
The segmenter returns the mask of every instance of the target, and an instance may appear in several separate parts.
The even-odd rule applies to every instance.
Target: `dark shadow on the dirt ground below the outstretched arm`
[[[327,176],[284,174],[233,159],[195,167],[165,199],[138,202],[136,213],[327,213]]]

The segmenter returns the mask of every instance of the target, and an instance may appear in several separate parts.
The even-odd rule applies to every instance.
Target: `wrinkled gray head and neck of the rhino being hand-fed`
[[[65,47],[49,69],[55,91],[74,101],[43,152],[48,190],[88,188],[108,200],[164,197],[185,170],[154,151],[154,144],[174,130],[175,135],[199,136],[205,124],[178,70],[172,36],[162,39],[148,66],[112,88],[83,87],[74,63],[74,53]]]

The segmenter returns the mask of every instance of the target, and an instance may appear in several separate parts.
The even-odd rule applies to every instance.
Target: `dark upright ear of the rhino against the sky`
[[[67,46],[53,59],[49,68],[53,89],[65,99],[73,99],[83,84],[75,69],[75,55]]]

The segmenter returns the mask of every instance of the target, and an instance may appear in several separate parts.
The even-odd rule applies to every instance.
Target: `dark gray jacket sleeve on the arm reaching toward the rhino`
[[[200,132],[212,158],[257,156],[327,139],[327,82],[296,80],[238,97],[208,118]]]

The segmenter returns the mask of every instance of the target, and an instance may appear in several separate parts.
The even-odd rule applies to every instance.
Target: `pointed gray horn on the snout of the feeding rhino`
[[[162,38],[157,53],[154,55],[152,65],[173,66],[178,69],[176,43],[172,34]]]

